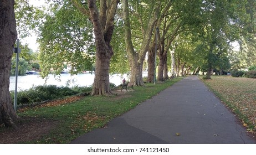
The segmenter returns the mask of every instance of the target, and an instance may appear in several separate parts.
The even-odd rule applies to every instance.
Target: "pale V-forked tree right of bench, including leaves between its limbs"
[[[143,86],[142,67],[155,33],[161,11],[167,12],[172,1],[123,1],[126,51],[130,61],[131,84]],[[129,6],[130,5],[130,6]],[[136,34],[136,35],[135,35]],[[151,50],[151,53],[153,50]],[[151,58],[154,56],[152,55]]]

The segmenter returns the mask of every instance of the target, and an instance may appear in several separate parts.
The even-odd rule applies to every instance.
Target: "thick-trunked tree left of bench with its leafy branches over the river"
[[[61,9],[55,9],[57,15],[60,15],[59,18],[50,15],[48,23],[46,23],[48,26],[44,27],[45,34],[43,36],[48,37],[50,44],[44,37],[40,43],[42,53],[45,53],[46,51],[52,53],[52,51],[54,51],[52,55],[55,54],[57,56],[52,57],[48,54],[41,54],[42,58],[47,55],[49,58],[41,59],[43,61],[47,60],[48,62],[45,61],[45,63],[42,63],[42,68],[49,69],[53,65],[53,63],[49,63],[52,62],[50,61],[51,57],[51,59],[54,59],[57,62],[55,63],[56,68],[62,69],[63,62],[61,62],[61,60],[69,58],[68,63],[71,63],[71,66],[73,66],[73,71],[78,71],[79,66],[83,66],[80,65],[82,63],[81,58],[83,58],[82,53],[85,51],[88,52],[88,46],[91,46],[90,41],[94,40],[96,65],[93,91],[91,95],[112,94],[109,83],[109,70],[113,50],[110,42],[114,32],[114,19],[119,2],[119,0],[101,0],[99,3],[95,0],[88,0],[87,3],[78,0],[63,1],[62,3],[64,5]],[[70,6],[70,3],[72,3],[76,9]],[[90,26],[86,26],[89,25],[86,23],[86,20],[88,19],[92,23],[92,29],[90,29]],[[82,25],[80,23],[82,23]],[[52,25],[56,25],[56,27],[54,28]],[[53,33],[49,34],[48,30],[51,29],[53,30]],[[57,32],[54,30],[57,30]],[[93,37],[94,34],[94,38],[89,40],[89,42],[86,40],[89,38],[86,37],[88,34],[91,37]],[[52,48],[52,51],[48,50],[49,47]],[[80,61],[78,62],[77,60]],[[47,73],[45,73],[45,75],[47,75]]]

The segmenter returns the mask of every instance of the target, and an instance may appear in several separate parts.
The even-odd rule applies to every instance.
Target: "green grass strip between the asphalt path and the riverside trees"
[[[146,84],[144,87],[135,87],[135,91],[129,91],[123,95],[86,96],[70,104],[19,112],[18,115],[22,118],[36,117],[58,122],[57,127],[42,138],[23,143],[70,143],[86,132],[105,126],[113,118],[151,99],[152,96],[181,79],[175,78],[155,85]]]

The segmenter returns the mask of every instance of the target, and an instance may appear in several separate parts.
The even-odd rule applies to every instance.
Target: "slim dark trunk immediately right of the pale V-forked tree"
[[[155,48],[151,48],[147,54],[147,82],[154,81],[154,74],[155,74]]]

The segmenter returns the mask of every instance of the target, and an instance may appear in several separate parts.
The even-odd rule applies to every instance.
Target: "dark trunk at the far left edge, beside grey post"
[[[18,118],[9,92],[14,43],[17,38],[14,1],[0,1],[0,127],[13,127]]]

